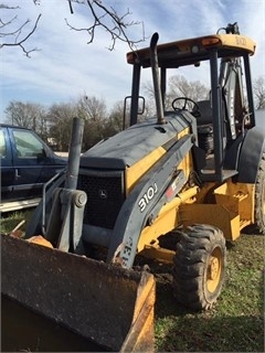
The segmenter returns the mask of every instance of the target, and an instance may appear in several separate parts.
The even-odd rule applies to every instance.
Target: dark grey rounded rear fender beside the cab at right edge
[[[256,174],[262,158],[262,152],[265,150],[265,129],[254,127],[246,132],[242,142],[240,160],[239,160],[239,176],[241,183],[255,183]]]

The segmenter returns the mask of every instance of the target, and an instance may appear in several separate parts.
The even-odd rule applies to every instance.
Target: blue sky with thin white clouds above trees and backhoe
[[[28,50],[38,47],[28,58],[19,47],[0,49],[0,120],[11,100],[30,101],[51,106],[78,99],[82,95],[104,98],[108,108],[130,94],[131,66],[126,63],[129,51],[125,43],[117,43],[109,51],[110,39],[104,31],[96,33],[94,43],[81,32],[71,31],[65,19],[76,26],[87,28],[91,15],[85,7],[73,4],[70,13],[67,0],[2,0],[19,10],[0,9],[0,19],[7,21],[18,14],[19,21],[34,20],[42,13],[38,30],[24,44]],[[237,22],[242,34],[252,38],[256,53],[252,58],[253,78],[265,76],[265,0],[103,0],[119,14],[131,13],[127,21],[144,22],[149,45],[153,32],[159,43],[215,33],[227,23]],[[82,10],[82,12],[81,12]],[[130,35],[139,39],[142,26],[135,25]],[[0,39],[3,41],[3,39]],[[1,42],[0,42],[1,43]]]

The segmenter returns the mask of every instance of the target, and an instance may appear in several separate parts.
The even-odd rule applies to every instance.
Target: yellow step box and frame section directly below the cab
[[[233,183],[227,180],[214,189],[211,183],[197,195],[197,202],[179,207],[179,223],[188,226],[204,223],[219,227],[226,239],[235,240],[241,229],[254,223],[255,185]],[[211,190],[211,191],[210,191]],[[206,195],[212,203],[206,203]]]

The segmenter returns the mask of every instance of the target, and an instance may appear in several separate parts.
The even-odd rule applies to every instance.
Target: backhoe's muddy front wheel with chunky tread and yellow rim
[[[193,310],[212,307],[224,281],[226,247],[223,233],[197,224],[187,228],[173,259],[176,299]]]

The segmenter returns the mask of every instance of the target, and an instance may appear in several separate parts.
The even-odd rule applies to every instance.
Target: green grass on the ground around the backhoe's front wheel
[[[31,212],[0,221],[9,233]],[[22,226],[24,231],[25,225]],[[264,237],[244,234],[227,246],[226,279],[216,304],[205,312],[178,306],[167,266],[157,274],[157,352],[264,352]]]

